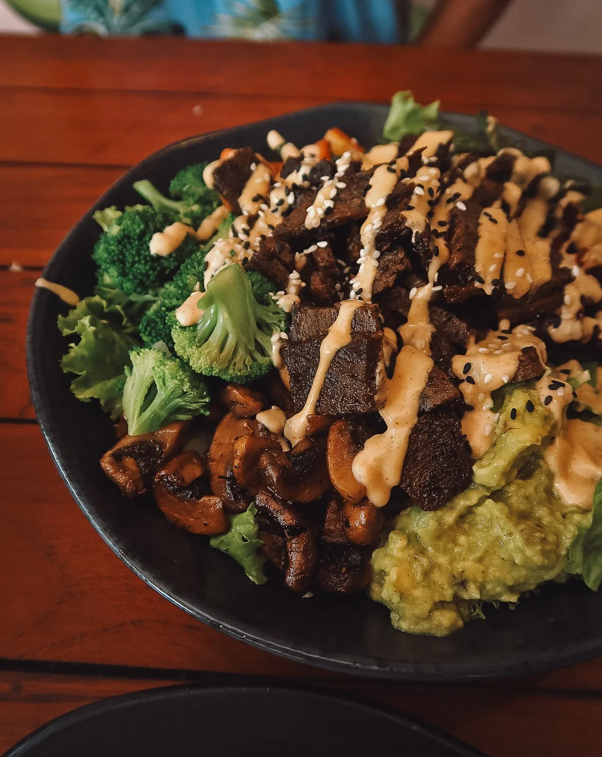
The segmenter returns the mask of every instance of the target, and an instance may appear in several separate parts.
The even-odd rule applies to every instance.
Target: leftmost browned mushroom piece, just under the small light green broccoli
[[[146,494],[161,463],[182,447],[188,425],[178,421],[150,434],[126,435],[104,453],[101,468],[126,497]]]

